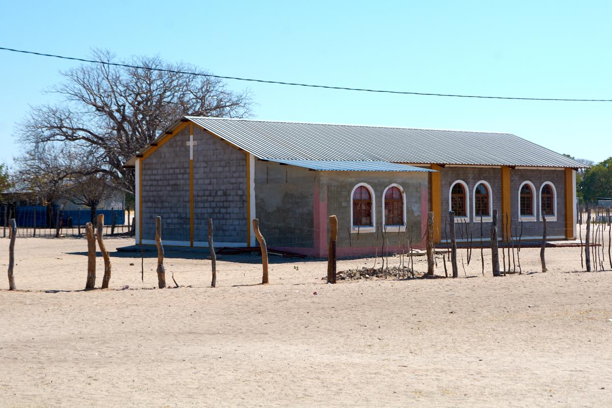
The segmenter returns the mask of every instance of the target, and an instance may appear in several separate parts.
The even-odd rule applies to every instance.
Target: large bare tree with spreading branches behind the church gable
[[[92,59],[114,61],[108,51],[93,54]],[[144,69],[88,64],[62,72],[64,83],[49,91],[62,100],[32,108],[19,127],[21,141],[58,141],[95,150],[104,159],[97,172],[133,193],[133,170],[122,165],[181,116],[250,113],[248,91],[233,92],[219,78],[184,73],[206,73],[191,65],[168,64],[159,57],[121,62]]]

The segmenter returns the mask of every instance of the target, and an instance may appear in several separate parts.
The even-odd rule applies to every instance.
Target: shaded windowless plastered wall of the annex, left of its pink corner
[[[318,172],[255,160],[255,214],[270,247],[313,248]]]

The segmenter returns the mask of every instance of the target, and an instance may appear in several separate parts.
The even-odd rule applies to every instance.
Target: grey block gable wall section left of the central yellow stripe
[[[143,160],[143,239],[155,239],[162,217],[163,240],[189,240],[188,127]]]

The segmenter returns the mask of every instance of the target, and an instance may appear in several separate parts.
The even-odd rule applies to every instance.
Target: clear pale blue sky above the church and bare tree
[[[416,92],[612,99],[612,2],[2,2],[0,46],[88,57],[159,54],[218,75]],[[76,62],[0,51],[0,161],[28,105]],[[254,116],[515,133],[612,156],[612,102],[521,102],[249,87]]]

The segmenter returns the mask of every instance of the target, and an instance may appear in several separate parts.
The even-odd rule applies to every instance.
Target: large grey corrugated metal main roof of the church
[[[510,133],[186,118],[264,159],[583,167]]]

